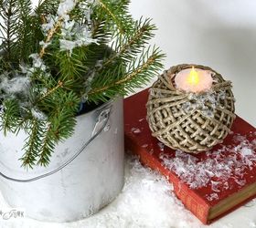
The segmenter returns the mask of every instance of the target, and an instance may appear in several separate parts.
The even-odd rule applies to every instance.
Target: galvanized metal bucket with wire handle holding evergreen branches
[[[0,189],[12,207],[41,221],[80,220],[121,192],[123,98],[77,117],[74,135],[60,143],[47,168],[26,171],[18,161],[27,134],[0,132]]]

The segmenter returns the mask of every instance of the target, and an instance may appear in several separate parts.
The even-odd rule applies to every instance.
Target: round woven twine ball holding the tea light
[[[209,91],[178,90],[176,74],[186,68],[209,70],[213,85]],[[235,119],[231,82],[210,67],[178,65],[155,81],[147,102],[147,121],[152,135],[166,146],[190,153],[209,150],[228,135]]]

